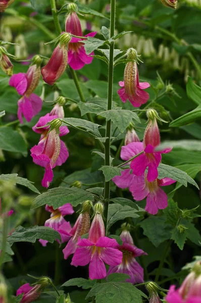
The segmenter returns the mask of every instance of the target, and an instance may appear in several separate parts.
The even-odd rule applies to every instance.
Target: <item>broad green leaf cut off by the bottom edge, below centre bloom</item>
[[[131,283],[126,282],[107,282],[96,283],[89,291],[88,297],[95,296],[96,303],[141,303],[142,296],[147,296],[133,286]]]

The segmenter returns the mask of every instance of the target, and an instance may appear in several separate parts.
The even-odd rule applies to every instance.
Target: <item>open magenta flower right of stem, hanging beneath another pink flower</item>
[[[175,180],[170,178],[156,179],[153,182],[148,182],[146,174],[138,177],[129,187],[133,198],[136,201],[146,198],[145,211],[149,214],[156,215],[158,210],[164,210],[168,206],[168,196],[160,188],[175,183]]]

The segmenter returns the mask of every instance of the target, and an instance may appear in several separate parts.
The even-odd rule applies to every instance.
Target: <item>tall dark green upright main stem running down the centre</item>
[[[111,15],[110,15],[110,37],[114,36],[115,33],[115,8],[116,0],[111,0]],[[108,111],[112,109],[112,98],[113,98],[113,72],[114,72],[114,47],[115,43],[110,43],[110,57],[109,57],[109,72],[108,72]],[[105,143],[105,165],[110,166],[110,140],[111,140],[111,120],[107,121],[106,124],[106,143]],[[105,182],[104,190],[105,198],[105,218],[107,228],[108,218],[108,207],[110,198],[110,181]]]

